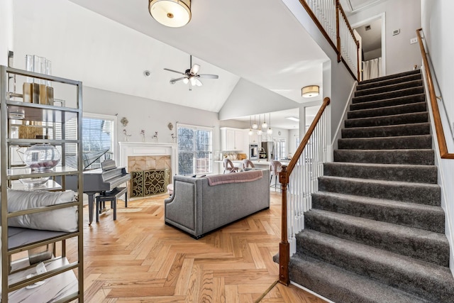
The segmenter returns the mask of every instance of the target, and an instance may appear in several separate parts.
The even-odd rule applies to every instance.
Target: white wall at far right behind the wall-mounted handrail
[[[433,63],[433,72],[438,80],[438,88],[451,123],[454,119],[454,41],[450,40],[454,26],[453,11],[454,1],[421,0],[423,33]],[[448,151],[454,153],[453,140],[450,138],[451,133],[448,126],[445,127],[444,132]],[[454,272],[454,187],[452,186],[454,184],[454,160],[439,159],[439,153],[437,158],[440,167],[438,182],[444,184],[445,196],[442,206],[447,214],[446,233],[451,245],[450,268],[451,272]]]

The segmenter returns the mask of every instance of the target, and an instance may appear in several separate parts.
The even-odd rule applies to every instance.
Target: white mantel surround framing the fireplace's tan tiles
[[[120,145],[119,162],[128,167],[128,157],[140,155],[170,155],[172,174],[177,173],[177,143],[118,142]]]

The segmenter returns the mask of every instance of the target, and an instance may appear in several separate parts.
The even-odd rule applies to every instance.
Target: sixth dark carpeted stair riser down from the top
[[[345,120],[345,127],[391,126],[399,124],[426,123],[428,113],[402,114],[378,118],[361,118]]]

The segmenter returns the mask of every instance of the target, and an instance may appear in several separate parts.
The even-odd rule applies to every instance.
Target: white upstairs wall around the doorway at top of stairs
[[[368,18],[384,13],[385,57],[387,75],[412,70],[414,65],[421,66],[421,53],[417,43],[410,44],[421,28],[421,4],[419,0],[388,0],[369,9],[348,16],[350,24],[360,23]],[[392,31],[400,29],[399,35]]]

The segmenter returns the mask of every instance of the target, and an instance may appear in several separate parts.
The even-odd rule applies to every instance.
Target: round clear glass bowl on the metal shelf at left
[[[60,152],[48,143],[35,144],[26,150],[23,162],[32,170],[50,170],[60,162]]]

